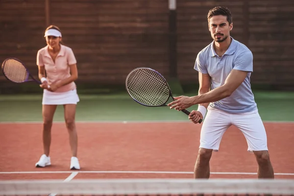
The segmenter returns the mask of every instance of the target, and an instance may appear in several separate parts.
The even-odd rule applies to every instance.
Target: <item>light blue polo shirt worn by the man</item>
[[[208,73],[211,76],[211,90],[223,85],[232,69],[248,73],[243,83],[231,96],[211,102],[210,106],[228,113],[256,110],[257,106],[250,85],[250,75],[253,72],[252,52],[244,44],[232,38],[229,48],[222,57],[219,57],[213,44],[214,41],[198,53],[194,66],[196,71]]]

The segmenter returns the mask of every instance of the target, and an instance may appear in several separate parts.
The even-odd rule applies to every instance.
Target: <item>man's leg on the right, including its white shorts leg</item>
[[[274,178],[267,144],[267,133],[258,111],[232,114],[232,123],[244,134],[248,151],[253,152],[258,163],[258,178]]]

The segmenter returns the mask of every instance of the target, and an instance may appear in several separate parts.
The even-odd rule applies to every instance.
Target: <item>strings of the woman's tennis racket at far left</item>
[[[5,76],[13,82],[24,82],[28,78],[28,72],[25,66],[15,59],[6,60],[2,64],[2,70]]]

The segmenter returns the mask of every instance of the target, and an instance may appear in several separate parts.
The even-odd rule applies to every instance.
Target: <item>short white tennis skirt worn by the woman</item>
[[[65,104],[76,104],[79,102],[76,89],[57,93],[51,92],[46,89],[43,91],[42,105],[65,105]]]

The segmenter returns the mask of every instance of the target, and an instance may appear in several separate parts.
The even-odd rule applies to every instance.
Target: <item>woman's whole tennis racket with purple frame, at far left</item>
[[[4,76],[15,83],[23,83],[34,81],[42,84],[41,81],[36,80],[32,74],[28,72],[24,63],[17,58],[7,58],[2,63],[2,73]]]

